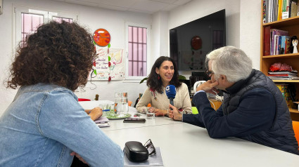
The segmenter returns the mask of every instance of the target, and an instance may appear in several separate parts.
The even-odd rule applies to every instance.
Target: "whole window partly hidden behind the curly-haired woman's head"
[[[19,6],[14,7],[14,13],[13,53],[15,53],[16,46],[18,46],[20,41],[24,41],[26,39],[26,36],[34,33],[39,25],[42,25],[51,20],[56,20],[58,22],[61,22],[61,20],[65,20],[66,22],[78,22],[78,16],[75,13],[40,11]],[[23,42],[21,43],[21,46],[23,46]]]

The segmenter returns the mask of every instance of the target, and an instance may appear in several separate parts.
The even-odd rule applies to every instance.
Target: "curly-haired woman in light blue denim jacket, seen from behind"
[[[0,119],[0,164],[70,166],[75,153],[91,166],[123,166],[118,145],[87,115],[73,93],[94,60],[91,34],[77,23],[49,22],[25,40],[8,88],[20,88]],[[82,156],[82,157],[80,157]]]

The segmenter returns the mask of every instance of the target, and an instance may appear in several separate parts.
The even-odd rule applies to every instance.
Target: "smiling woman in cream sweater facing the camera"
[[[155,116],[167,116],[170,100],[167,98],[165,88],[173,85],[177,94],[174,98],[174,106],[186,114],[191,114],[191,100],[188,86],[179,82],[179,72],[177,65],[172,58],[161,56],[151,68],[151,73],[146,80],[146,91],[136,105],[138,112],[146,113],[148,103],[151,103],[151,111]]]

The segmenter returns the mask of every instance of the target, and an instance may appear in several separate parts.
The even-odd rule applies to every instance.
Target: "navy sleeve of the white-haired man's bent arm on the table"
[[[245,93],[237,109],[228,115],[222,114],[222,107],[212,112],[205,103],[208,101],[196,98],[196,107],[211,138],[241,137],[270,128],[276,111],[274,97],[265,88]]]

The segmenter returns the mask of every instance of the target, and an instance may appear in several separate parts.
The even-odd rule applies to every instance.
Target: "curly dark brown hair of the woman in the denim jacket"
[[[91,34],[77,23],[44,24],[19,46],[7,88],[53,83],[75,91],[86,85],[94,53]]]

